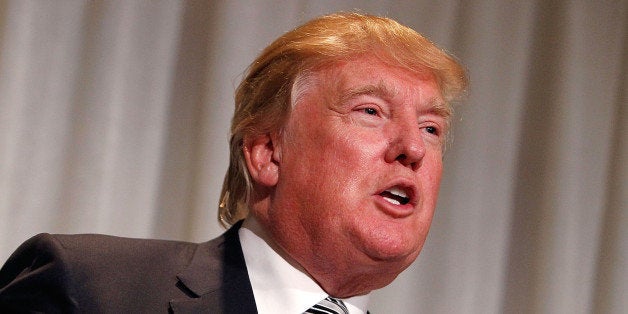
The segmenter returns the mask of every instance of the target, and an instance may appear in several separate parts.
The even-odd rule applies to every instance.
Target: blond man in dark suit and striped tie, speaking
[[[0,271],[0,310],[365,313],[423,246],[465,87],[457,62],[390,19],[314,19],[238,87],[225,234],[39,235]]]

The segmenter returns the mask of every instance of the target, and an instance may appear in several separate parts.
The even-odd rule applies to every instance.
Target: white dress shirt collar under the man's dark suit
[[[242,252],[259,314],[301,314],[328,294],[307,274],[281,257],[253,230],[253,217],[239,230]],[[364,314],[368,295],[342,299],[350,314]]]

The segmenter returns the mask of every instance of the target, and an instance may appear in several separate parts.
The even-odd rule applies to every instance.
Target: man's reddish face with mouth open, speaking
[[[375,271],[392,277],[383,286],[415,260],[434,213],[447,132],[437,83],[362,57],[306,85],[275,144],[266,226],[315,279]]]

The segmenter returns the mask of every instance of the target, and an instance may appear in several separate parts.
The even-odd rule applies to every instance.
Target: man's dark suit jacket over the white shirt
[[[201,244],[37,235],[0,270],[0,313],[257,313],[240,225]]]

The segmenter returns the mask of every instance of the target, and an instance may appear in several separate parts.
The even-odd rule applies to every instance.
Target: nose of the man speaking
[[[416,122],[398,126],[386,152],[386,162],[398,162],[413,171],[421,167],[425,156],[425,142]]]

